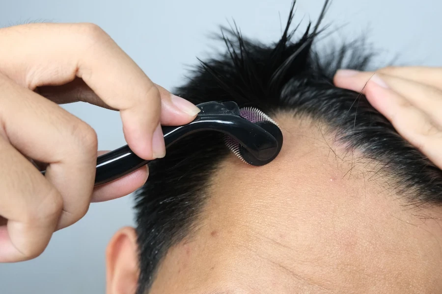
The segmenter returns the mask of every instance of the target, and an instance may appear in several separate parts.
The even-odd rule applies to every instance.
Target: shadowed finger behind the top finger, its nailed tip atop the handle
[[[170,94],[159,85],[156,85],[156,87],[161,96],[160,122],[162,125],[182,125],[189,123],[189,116],[195,117],[195,106],[191,102]],[[35,92],[57,104],[83,101],[116,110],[99,98],[81,78],[75,78],[73,81],[61,86],[38,87],[35,89]]]

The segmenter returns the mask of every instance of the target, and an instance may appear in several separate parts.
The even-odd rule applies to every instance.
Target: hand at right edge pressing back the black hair
[[[356,92],[363,89],[397,132],[442,169],[442,68],[387,67],[376,73],[342,70],[334,83]]]

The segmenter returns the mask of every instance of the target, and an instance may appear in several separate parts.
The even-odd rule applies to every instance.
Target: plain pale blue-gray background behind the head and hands
[[[183,81],[196,56],[207,56],[208,38],[232,19],[244,35],[275,41],[291,0],[0,0],[0,26],[29,21],[92,22],[100,25],[156,83],[171,89]],[[315,20],[322,0],[298,0],[295,22]],[[334,0],[325,23],[336,40],[368,33],[382,49],[380,64],[399,61],[442,65],[442,1]],[[305,27],[302,26],[302,27]],[[7,44],[0,44],[7,46]],[[221,46],[218,46],[221,48]],[[99,148],[125,144],[116,112],[89,104],[64,106],[98,133]],[[97,294],[105,292],[105,247],[120,227],[133,225],[132,197],[92,204],[87,215],[55,233],[37,259],[0,264],[1,294]]]

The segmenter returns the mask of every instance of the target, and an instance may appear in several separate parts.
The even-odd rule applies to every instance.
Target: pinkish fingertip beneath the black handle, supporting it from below
[[[98,155],[107,152],[109,151],[98,151]],[[91,202],[108,201],[131,194],[146,182],[148,173],[147,166],[144,166],[122,178],[95,187]]]

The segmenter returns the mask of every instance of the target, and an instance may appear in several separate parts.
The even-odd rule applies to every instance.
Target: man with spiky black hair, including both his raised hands
[[[352,91],[339,89],[336,69],[362,70],[369,55],[344,46],[321,58],[312,49],[318,26],[294,43],[289,26],[269,47],[233,33],[229,54],[204,63],[178,91],[194,103],[234,100],[261,108],[281,126],[280,154],[251,167],[213,133],[168,149],[138,193],[138,227],[121,229],[109,244],[109,294],[441,293],[441,70],[341,71],[335,85]],[[68,51],[70,62],[59,50],[30,56],[19,45],[40,44],[29,37],[37,33],[67,41],[85,36],[78,49],[94,45],[101,54]],[[155,131],[160,98],[162,124],[189,122],[196,112],[153,85],[96,26],[16,27],[2,30],[0,39],[17,49],[0,54],[4,262],[35,257],[55,229],[83,216],[91,198],[127,194],[146,178],[143,169],[93,190],[94,133],[41,96],[66,102],[80,93],[79,100],[121,109],[129,145],[145,158],[164,155]],[[6,58],[11,52],[17,55]],[[119,57],[115,64],[103,62],[108,54]],[[153,90],[122,100],[121,85],[104,87],[115,68],[115,80],[129,90]],[[359,95],[369,79],[366,97]],[[48,115],[31,116],[33,110]],[[44,144],[51,138],[57,150]],[[46,161],[52,172],[42,177],[23,154]]]

